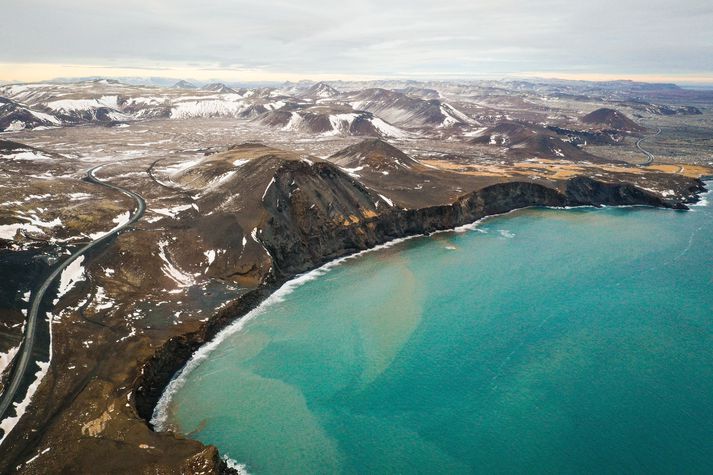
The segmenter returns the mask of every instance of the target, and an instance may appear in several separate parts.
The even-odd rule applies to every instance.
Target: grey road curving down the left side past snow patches
[[[95,239],[94,241],[82,246],[81,249],[77,250],[71,256],[65,259],[59,266],[57,266],[57,268],[49,275],[49,277],[47,277],[45,281],[42,282],[42,285],[39,287],[39,289],[37,289],[37,291],[33,293],[32,301],[30,302],[30,311],[27,314],[25,336],[18,356],[15,359],[15,364],[13,365],[12,379],[7,385],[5,391],[3,391],[2,399],[0,400],[0,420],[4,419],[7,416],[7,411],[11,407],[12,402],[15,400],[15,396],[21,386],[22,380],[26,376],[27,369],[31,361],[32,349],[35,344],[35,334],[37,332],[37,325],[39,319],[38,312],[40,309],[40,304],[44,299],[45,292],[47,292],[47,289],[52,285],[52,283],[55,281],[55,279],[57,279],[57,277],[62,273],[62,271],[66,269],[67,266],[71,264],[75,259],[85,254],[87,251],[97,246],[98,244],[116,236],[126,227],[138,221],[143,216],[144,211],[146,210],[146,201],[144,201],[144,199],[138,194],[134,193],[133,191],[129,191],[125,188],[121,188],[120,186],[112,185],[110,183],[99,180],[94,175],[94,172],[102,166],[103,165],[99,165],[87,171],[86,180],[96,185],[111,188],[112,190],[116,190],[128,196],[129,198],[136,201],[136,209],[133,211],[133,213],[131,213],[131,215],[129,216],[129,220],[126,223],[115,227],[114,229],[102,235],[98,239]]]

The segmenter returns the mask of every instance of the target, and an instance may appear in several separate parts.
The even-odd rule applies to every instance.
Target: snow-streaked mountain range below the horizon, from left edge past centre
[[[409,91],[425,96],[436,93],[427,88]],[[149,119],[234,118],[285,131],[404,138],[446,130],[459,133],[478,125],[441,99],[423,99],[383,88],[340,92],[324,82],[290,84],[280,89],[234,89],[223,83],[196,88],[179,81],[166,88],[91,80],[6,85],[0,86],[0,95],[6,97],[4,131]]]

